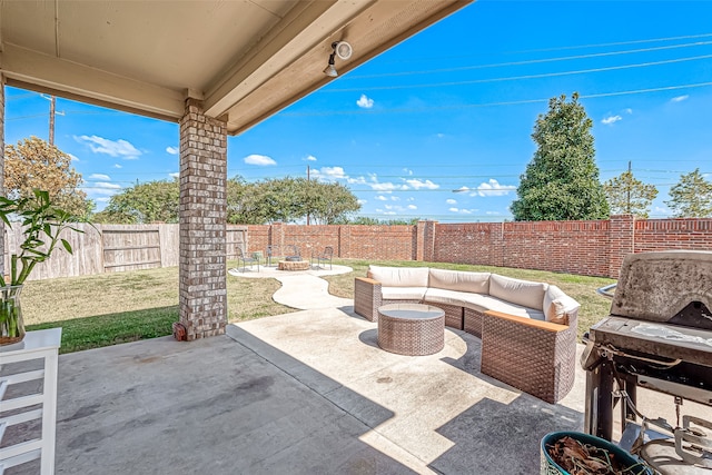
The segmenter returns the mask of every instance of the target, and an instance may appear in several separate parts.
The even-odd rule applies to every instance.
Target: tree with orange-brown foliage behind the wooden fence
[[[26,199],[32,206],[34,190],[42,189],[58,208],[86,218],[93,202],[79,189],[81,184],[71,157],[42,139],[30,137],[4,149],[4,189],[10,199]]]

